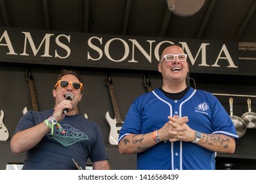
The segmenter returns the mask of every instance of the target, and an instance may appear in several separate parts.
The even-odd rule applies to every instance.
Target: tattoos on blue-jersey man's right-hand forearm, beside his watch
[[[202,140],[205,141],[205,143],[209,144],[210,146],[218,144],[219,151],[217,152],[224,152],[224,150],[228,148],[228,144],[230,143],[230,137],[226,135],[219,135],[219,134],[210,135],[210,134],[203,133]]]

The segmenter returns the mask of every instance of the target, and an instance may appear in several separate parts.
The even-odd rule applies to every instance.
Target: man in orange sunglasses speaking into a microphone
[[[99,125],[77,114],[82,95],[81,76],[64,69],[53,88],[54,108],[22,116],[11,140],[12,152],[27,152],[22,169],[85,169],[88,158],[93,169],[110,169]]]

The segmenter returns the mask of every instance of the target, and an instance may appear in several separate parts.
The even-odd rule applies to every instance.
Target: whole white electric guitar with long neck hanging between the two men
[[[120,111],[118,108],[117,98],[114,92],[114,86],[112,84],[112,80],[108,74],[106,74],[105,83],[108,85],[108,88],[110,90],[110,97],[112,100],[112,105],[114,108],[114,114],[115,118],[110,118],[109,112],[106,112],[105,118],[108,121],[108,124],[110,125],[110,135],[108,138],[108,141],[112,145],[118,144],[118,137],[119,137],[119,131],[121,130],[121,127],[123,125],[123,121],[121,120]]]

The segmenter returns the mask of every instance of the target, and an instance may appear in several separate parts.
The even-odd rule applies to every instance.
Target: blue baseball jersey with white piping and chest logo
[[[207,134],[223,134],[238,139],[236,129],[219,100],[209,92],[190,88],[179,100],[166,97],[158,88],[144,93],[132,103],[119,141],[130,133],[145,134],[160,129],[167,116],[188,116],[188,125]],[[137,169],[215,169],[215,152],[192,142],[160,142],[137,154]]]

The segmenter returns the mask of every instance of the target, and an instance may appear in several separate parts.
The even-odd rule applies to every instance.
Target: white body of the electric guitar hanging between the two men
[[[121,125],[123,125],[123,122],[121,122],[119,124],[120,126],[118,126],[116,118],[112,119],[110,117],[109,112],[106,112],[105,118],[106,118],[108,124],[110,125],[110,135],[108,137],[108,141],[112,145],[117,145],[118,144],[119,131],[121,130]]]

